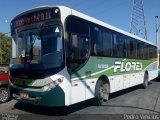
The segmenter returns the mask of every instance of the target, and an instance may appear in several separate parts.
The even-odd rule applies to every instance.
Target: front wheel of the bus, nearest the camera
[[[108,83],[104,83],[102,80],[99,80],[96,84],[95,88],[95,105],[101,106],[104,102],[106,102],[109,98],[108,92],[109,85]]]

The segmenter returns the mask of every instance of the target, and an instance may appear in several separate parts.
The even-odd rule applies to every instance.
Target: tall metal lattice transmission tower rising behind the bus
[[[144,0],[133,0],[130,33],[148,40],[144,16]]]

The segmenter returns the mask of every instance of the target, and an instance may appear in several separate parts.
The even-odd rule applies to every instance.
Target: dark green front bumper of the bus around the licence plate
[[[13,99],[21,102],[50,107],[65,106],[65,93],[59,86],[45,92],[41,89],[12,86],[10,91]],[[22,98],[21,94],[27,95],[27,97]]]

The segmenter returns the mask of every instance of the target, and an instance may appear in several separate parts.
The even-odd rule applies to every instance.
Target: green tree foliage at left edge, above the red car
[[[11,53],[11,38],[0,32],[0,63],[9,64]]]

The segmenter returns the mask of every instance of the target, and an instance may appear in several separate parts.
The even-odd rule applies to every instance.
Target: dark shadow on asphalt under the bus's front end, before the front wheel
[[[68,107],[45,107],[45,106],[36,106],[29,103],[17,102],[14,105],[14,109],[19,109],[25,112],[49,116],[63,116],[71,114],[73,112],[85,109],[91,106],[93,100],[87,100],[78,104],[70,105]]]

